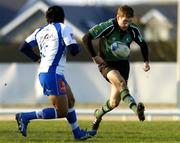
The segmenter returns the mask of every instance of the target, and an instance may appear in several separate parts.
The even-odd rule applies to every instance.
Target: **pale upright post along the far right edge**
[[[180,1],[177,1],[177,108],[180,109]]]

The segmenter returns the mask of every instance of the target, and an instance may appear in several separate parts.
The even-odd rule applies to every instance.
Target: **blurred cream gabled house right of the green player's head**
[[[170,41],[177,36],[177,3],[134,6],[146,41]]]

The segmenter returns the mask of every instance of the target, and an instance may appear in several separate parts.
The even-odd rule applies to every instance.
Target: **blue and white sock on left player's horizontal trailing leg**
[[[36,111],[36,116],[38,119],[56,119],[57,111],[55,108],[44,108],[40,111]]]

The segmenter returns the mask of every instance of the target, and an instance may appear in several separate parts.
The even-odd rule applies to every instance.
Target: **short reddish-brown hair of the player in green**
[[[132,18],[134,17],[134,10],[130,6],[124,5],[118,8],[117,15]]]

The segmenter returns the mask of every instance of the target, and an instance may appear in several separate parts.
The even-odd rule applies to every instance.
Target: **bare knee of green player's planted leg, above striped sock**
[[[119,105],[121,100],[120,91],[112,84],[111,85],[111,95],[110,95],[110,106],[115,108]]]

